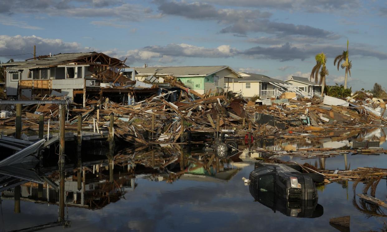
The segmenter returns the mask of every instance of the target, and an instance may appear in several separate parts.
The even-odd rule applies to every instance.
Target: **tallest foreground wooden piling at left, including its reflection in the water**
[[[59,105],[60,123],[59,123],[59,222],[65,221],[65,105]]]

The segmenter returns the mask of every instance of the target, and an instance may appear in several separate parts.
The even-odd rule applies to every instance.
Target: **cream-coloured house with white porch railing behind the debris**
[[[261,74],[242,72],[239,72],[239,74],[243,78],[226,81],[224,89],[240,92],[244,98],[253,97],[254,95],[258,95],[261,99],[276,98],[281,96],[291,86],[282,80]]]

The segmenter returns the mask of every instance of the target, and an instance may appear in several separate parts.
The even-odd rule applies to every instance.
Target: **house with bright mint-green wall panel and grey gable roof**
[[[228,79],[240,78],[240,75],[228,66],[189,66],[189,67],[160,67],[160,68],[135,68],[136,79],[143,80],[150,75],[158,77],[173,75],[183,84],[204,94],[223,92],[224,82]]]

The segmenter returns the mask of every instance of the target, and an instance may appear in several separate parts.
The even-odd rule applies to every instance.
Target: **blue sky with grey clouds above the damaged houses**
[[[287,79],[309,77],[314,55],[333,65],[346,49],[354,90],[387,87],[384,0],[0,0],[0,60],[99,51],[131,67],[229,65]],[[19,55],[26,54],[27,55]],[[19,55],[19,56],[9,56]]]

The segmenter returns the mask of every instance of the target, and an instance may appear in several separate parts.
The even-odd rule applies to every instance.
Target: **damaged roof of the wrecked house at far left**
[[[41,56],[37,57],[36,60],[29,59],[26,61],[16,61],[11,63],[5,63],[4,66],[9,66],[10,69],[23,69],[23,68],[45,68],[45,67],[55,67],[58,65],[71,63],[72,61],[77,61],[82,58],[86,58],[93,55],[103,55],[108,57],[103,53],[96,52],[87,52],[87,53],[59,53],[53,56]],[[116,58],[110,58],[112,63],[121,63],[122,61]]]

